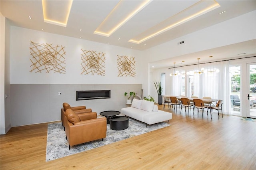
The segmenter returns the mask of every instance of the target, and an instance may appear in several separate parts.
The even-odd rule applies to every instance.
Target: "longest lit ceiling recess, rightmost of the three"
[[[218,2],[215,0],[201,0],[196,4],[186,8],[185,10],[175,14],[174,16],[171,16],[170,18],[160,22],[156,26],[139,34],[135,38],[132,38],[128,42],[136,44],[142,43],[150,38],[153,38],[154,36],[162,34],[163,32],[184,24],[185,22],[206,14],[207,12],[210,12],[218,7],[220,7],[220,4],[218,4]]]

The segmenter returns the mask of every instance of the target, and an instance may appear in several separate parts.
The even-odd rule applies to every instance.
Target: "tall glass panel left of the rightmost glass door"
[[[229,67],[229,75],[230,75],[230,113],[232,115],[241,115],[241,89],[240,89],[240,75],[241,75],[241,67],[230,66]]]

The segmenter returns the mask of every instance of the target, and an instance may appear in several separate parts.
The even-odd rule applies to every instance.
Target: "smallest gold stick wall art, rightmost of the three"
[[[131,76],[135,77],[135,60],[134,57],[127,57],[126,55],[117,55],[118,77]]]

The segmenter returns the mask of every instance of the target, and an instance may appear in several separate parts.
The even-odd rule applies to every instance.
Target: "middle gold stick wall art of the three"
[[[81,65],[84,75],[105,76],[105,53],[81,49]]]

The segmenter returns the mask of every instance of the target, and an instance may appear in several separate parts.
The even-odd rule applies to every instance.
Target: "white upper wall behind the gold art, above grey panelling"
[[[62,45],[66,55],[66,74],[30,72],[30,41]],[[76,83],[142,83],[144,75],[142,51],[90,42],[67,36],[60,36],[36,30],[11,26],[11,84],[76,84]],[[81,75],[81,48],[105,53],[106,76]],[[118,77],[117,55],[135,57],[136,77]]]

